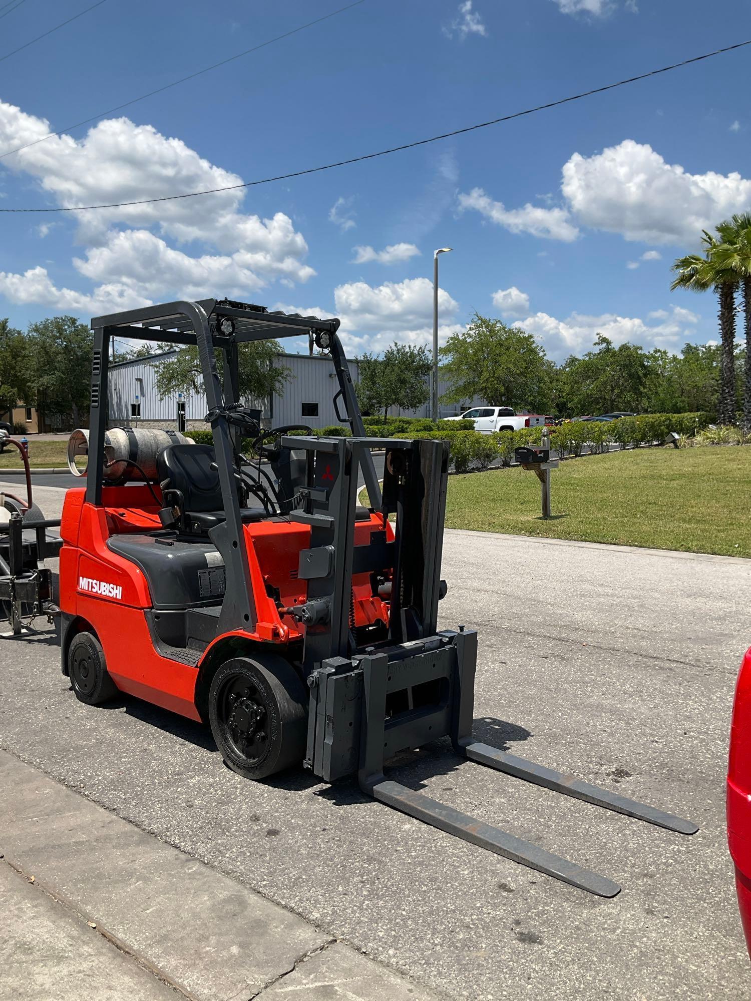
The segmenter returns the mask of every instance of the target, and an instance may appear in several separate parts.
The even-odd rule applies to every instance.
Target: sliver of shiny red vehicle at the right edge
[[[735,690],[727,797],[728,845],[751,951],[751,650],[746,653]]]

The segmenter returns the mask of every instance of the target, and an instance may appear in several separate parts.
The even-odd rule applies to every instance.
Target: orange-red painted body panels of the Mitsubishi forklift
[[[152,607],[146,578],[135,564],[107,548],[113,535],[161,528],[154,497],[146,486],[105,486],[102,507],[97,508],[86,504],[84,494],[84,489],[70,489],[65,496],[60,532],[64,541],[60,553],[61,610],[82,617],[93,627],[118,689],[198,720],[195,683],[199,666],[160,656],[144,616],[144,610]],[[369,522],[357,522],[355,545],[366,545],[371,532],[383,530],[380,515],[372,515]],[[297,567],[300,551],[309,546],[309,527],[264,521],[245,525],[243,533],[257,622],[253,633],[239,635],[283,645],[300,640],[304,627],[291,616],[279,617],[275,595],[278,593],[282,608],[305,602],[307,586],[297,580]],[[389,523],[387,534],[394,538]],[[388,624],[388,606],[373,598],[371,590],[368,574],[353,579],[355,627],[379,620]],[[222,639],[217,637],[209,645],[201,661]]]

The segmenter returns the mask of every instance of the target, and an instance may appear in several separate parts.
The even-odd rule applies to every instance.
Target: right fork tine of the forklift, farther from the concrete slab
[[[473,742],[467,744],[464,751],[468,758],[481,765],[495,768],[499,772],[506,772],[507,775],[514,775],[518,779],[526,779],[527,782],[534,782],[536,786],[544,786],[557,793],[574,796],[576,799],[592,803],[594,806],[605,807],[606,810],[614,810],[616,813],[626,814],[627,817],[636,817],[637,820],[646,821],[648,824],[656,824],[658,827],[667,828],[668,831],[676,831],[678,834],[696,834],[699,830],[698,826],[690,820],[683,820],[681,817],[666,813],[664,810],[657,810],[645,803],[637,803],[636,800],[620,796],[610,789],[601,789],[600,786],[583,782],[573,775],[565,775],[563,772],[556,772],[552,768],[537,765],[525,758],[517,758],[516,755],[499,751],[488,744]]]

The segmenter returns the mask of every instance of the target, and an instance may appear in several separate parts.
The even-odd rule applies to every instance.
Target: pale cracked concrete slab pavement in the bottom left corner
[[[435,997],[4,752],[0,788],[0,999]]]

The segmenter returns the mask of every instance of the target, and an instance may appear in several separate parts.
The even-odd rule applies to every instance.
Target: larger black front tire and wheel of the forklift
[[[258,714],[244,743],[238,739],[242,729],[230,723],[232,696]],[[307,702],[294,668],[275,654],[236,657],[222,664],[208,692],[208,720],[225,765],[254,781],[299,766],[305,755]],[[242,712],[242,706],[238,708]]]

